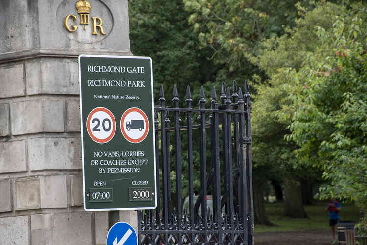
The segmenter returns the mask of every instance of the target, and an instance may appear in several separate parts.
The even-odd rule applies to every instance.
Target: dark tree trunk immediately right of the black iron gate
[[[255,224],[264,224],[273,226],[269,221],[268,215],[265,211],[264,201],[264,186],[263,181],[253,181],[253,215]]]

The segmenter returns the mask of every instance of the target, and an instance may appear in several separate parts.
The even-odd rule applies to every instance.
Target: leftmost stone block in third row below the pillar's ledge
[[[27,171],[25,141],[0,142],[0,173]]]

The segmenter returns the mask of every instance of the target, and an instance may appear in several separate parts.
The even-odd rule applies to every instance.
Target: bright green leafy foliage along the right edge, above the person
[[[334,16],[331,28],[316,26],[320,46],[308,54],[298,72],[304,79],[288,87],[294,108],[288,139],[300,147],[299,158],[321,167],[330,181],[320,197],[355,201],[363,208],[367,207],[367,35],[361,30],[366,30],[366,20],[366,8],[356,5]]]

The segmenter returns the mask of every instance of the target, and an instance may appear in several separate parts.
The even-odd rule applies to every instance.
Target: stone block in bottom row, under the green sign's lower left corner
[[[87,212],[54,214],[52,245],[91,245],[92,219]]]

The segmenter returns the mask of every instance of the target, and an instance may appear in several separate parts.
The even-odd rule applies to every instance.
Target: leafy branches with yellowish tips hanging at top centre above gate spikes
[[[295,0],[184,0],[203,48],[214,50],[211,59],[222,66],[219,79],[266,78],[250,62],[262,53],[265,39],[278,37],[295,26]],[[303,2],[303,1],[302,1]],[[305,1],[308,2],[308,1]],[[312,8],[312,4],[307,4]],[[303,9],[303,11],[306,11]]]

